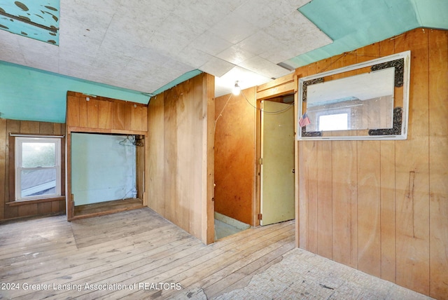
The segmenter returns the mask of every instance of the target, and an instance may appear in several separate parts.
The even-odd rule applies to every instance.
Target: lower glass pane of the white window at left
[[[56,193],[56,170],[22,170],[21,198]]]

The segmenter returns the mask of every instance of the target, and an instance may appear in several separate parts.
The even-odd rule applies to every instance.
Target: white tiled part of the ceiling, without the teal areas
[[[255,86],[331,43],[297,11],[308,1],[61,0],[59,47],[0,31],[0,60],[146,93],[193,69],[216,90],[242,74]]]

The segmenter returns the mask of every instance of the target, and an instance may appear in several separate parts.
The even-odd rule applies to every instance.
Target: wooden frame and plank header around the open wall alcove
[[[99,214],[109,214],[115,210],[94,212],[76,216],[71,193],[71,133],[98,133],[109,135],[139,135],[144,146],[137,147],[137,197],[141,206],[147,206],[145,157],[147,153],[148,105],[106,97],[67,92],[66,111],[66,214],[69,221]],[[113,199],[111,199],[113,200]]]

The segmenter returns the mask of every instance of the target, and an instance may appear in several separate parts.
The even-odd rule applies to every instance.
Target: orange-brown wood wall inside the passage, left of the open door
[[[255,88],[215,100],[215,211],[254,224]]]

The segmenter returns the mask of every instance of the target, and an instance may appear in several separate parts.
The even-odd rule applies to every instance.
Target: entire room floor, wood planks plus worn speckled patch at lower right
[[[0,299],[429,299],[295,248],[294,225],[206,246],[148,208],[3,222]]]

